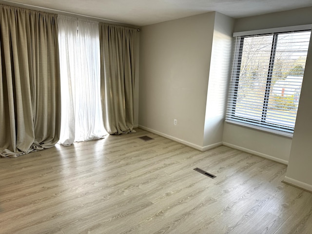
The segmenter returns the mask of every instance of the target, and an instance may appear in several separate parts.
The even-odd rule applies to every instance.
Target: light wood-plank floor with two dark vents
[[[140,129],[0,158],[0,234],[312,234],[312,194],[285,172]]]

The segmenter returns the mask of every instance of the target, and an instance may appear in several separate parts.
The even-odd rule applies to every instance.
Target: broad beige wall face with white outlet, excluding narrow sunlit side
[[[142,27],[141,128],[202,148],[214,24],[212,12]]]

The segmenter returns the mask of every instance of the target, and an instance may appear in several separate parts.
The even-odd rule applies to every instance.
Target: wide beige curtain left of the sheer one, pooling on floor
[[[59,140],[57,16],[0,5],[0,156]]]

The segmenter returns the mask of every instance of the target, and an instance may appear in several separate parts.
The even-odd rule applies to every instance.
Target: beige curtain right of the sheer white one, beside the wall
[[[109,134],[135,132],[135,33],[133,28],[99,23],[101,103]]]

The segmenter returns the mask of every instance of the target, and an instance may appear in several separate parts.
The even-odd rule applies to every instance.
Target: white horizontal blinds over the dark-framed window
[[[293,132],[310,35],[236,37],[228,120]]]

